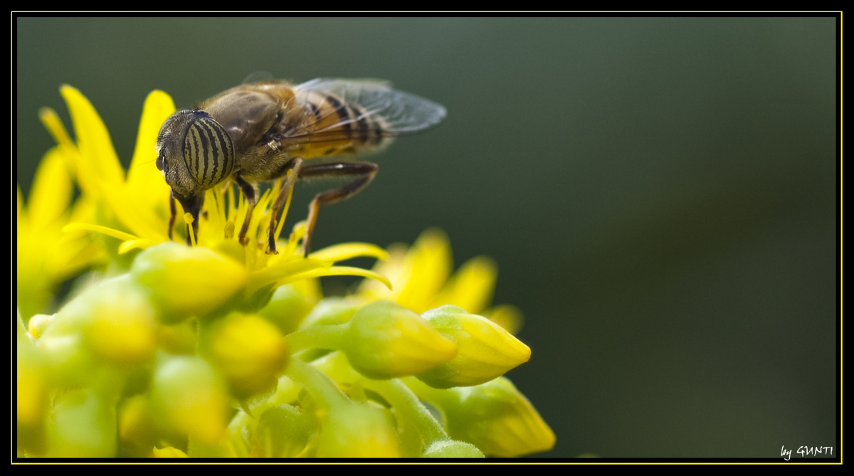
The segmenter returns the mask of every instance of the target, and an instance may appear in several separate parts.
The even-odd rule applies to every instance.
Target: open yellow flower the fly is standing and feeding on
[[[110,141],[107,128],[95,108],[92,107],[91,102],[80,94],[79,90],[71,86],[62,86],[60,92],[71,114],[77,142],[73,142],[68,136],[67,131],[56,117],[56,113],[44,110],[42,118],[59,144],[57,149],[63,154],[62,160],[75,172],[81,190],[79,201],[85,204],[94,204],[90,205],[90,208],[94,207],[97,210],[97,212],[82,216],[80,221],[66,224],[62,230],[73,236],[79,236],[80,230],[89,230],[118,238],[121,241],[118,247],[120,254],[168,241],[169,187],[160,171],[155,167],[154,144],[163,121],[175,111],[172,98],[159,90],[152,91],[146,98],[143,105],[143,116],[139,124],[137,145],[130,169],[126,174]],[[56,161],[58,159],[53,160],[51,164]],[[51,166],[56,168],[57,165]],[[58,174],[54,173],[53,175]],[[53,188],[65,190],[69,187],[70,185],[62,183]],[[37,205],[48,201],[44,199],[44,196],[48,196],[49,193],[40,191],[44,188],[34,187],[35,197],[41,201],[32,199],[31,201]],[[243,282],[241,282],[243,278],[240,276],[246,275],[244,296],[246,299],[251,298],[256,293],[258,293],[259,299],[265,299],[268,297],[266,291],[275,287],[318,276],[366,276],[378,279],[385,286],[389,286],[388,280],[376,272],[334,265],[336,261],[359,256],[385,258],[385,251],[373,245],[364,243],[336,245],[312,253],[308,259],[302,258],[301,253],[298,253],[297,250],[299,241],[305,233],[305,227],[301,223],[297,224],[288,241],[280,245],[281,253],[278,255],[266,254],[264,243],[266,236],[264,235],[271,219],[269,207],[272,204],[272,198],[277,194],[278,184],[261,195],[255,206],[254,216],[258,218],[252,220],[249,229],[249,237],[254,239],[250,241],[249,246],[241,247],[237,243],[233,229],[234,223],[243,223],[247,209],[245,200],[236,199],[235,188],[231,185],[225,189],[208,190],[208,197],[202,210],[202,217],[206,218],[200,220],[199,236],[193,237],[194,241],[198,241],[198,246],[208,247],[220,256],[234,258],[237,263],[243,264],[244,270],[236,272],[233,279],[238,282],[238,287],[243,287]],[[67,193],[63,192],[58,195],[65,196]],[[284,206],[283,219],[279,220],[278,231],[281,231],[281,224],[284,223],[284,214],[287,213],[288,205],[290,205],[290,197],[289,203]],[[179,207],[180,204],[176,203],[176,206]],[[42,211],[44,208],[52,211],[57,208],[61,209],[61,206],[43,205],[31,211],[30,215],[33,215],[33,212],[44,215],[45,212]],[[19,194],[19,223],[20,217],[26,217],[26,213],[23,212]],[[61,224],[67,223],[67,221]],[[22,227],[19,225],[19,228]],[[26,229],[26,227],[23,228]],[[179,225],[177,228],[180,230],[186,227]],[[62,248],[56,246],[56,235],[47,236],[49,239],[50,237],[53,237],[55,241],[42,240],[39,247]],[[19,243],[21,241],[19,235]],[[19,245],[19,256],[20,253]],[[213,258],[213,255],[209,256],[210,258],[200,259],[202,261],[219,259]],[[78,265],[78,268],[75,269],[80,267]],[[27,269],[37,270],[37,267],[30,266]],[[66,271],[62,276],[67,276],[67,274]],[[190,281],[199,276],[203,277],[203,273],[197,272],[184,276],[178,276],[178,273],[163,274],[160,277],[178,281],[173,282],[174,287],[161,285],[161,289],[165,289],[165,292],[168,293],[177,294],[179,291],[185,290],[179,280]],[[189,294],[180,293],[181,296],[188,296]],[[34,310],[32,313],[35,311],[38,310]]]

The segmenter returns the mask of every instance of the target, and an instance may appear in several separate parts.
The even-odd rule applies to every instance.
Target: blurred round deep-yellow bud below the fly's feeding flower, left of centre
[[[278,328],[253,315],[232,314],[214,324],[208,352],[239,399],[275,386],[288,361],[288,345]]]

